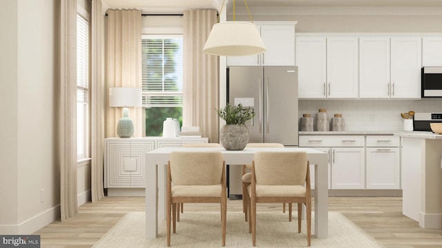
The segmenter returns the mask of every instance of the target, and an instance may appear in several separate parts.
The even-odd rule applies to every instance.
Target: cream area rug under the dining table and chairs
[[[307,247],[306,225],[298,234],[298,220],[289,222],[282,212],[258,212],[256,227],[257,247]],[[131,212],[109,230],[93,247],[167,247],[166,221],[160,222],[158,237],[146,239],[144,212]],[[311,232],[314,234],[312,220]],[[219,212],[186,211],[180,216],[176,234],[171,234],[171,247],[222,247]],[[241,212],[227,213],[226,247],[252,247],[248,224]],[[379,248],[372,236],[340,213],[329,212],[329,237],[311,237],[311,247]]]

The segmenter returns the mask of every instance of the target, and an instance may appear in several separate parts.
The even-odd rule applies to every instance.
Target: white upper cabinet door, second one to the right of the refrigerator
[[[358,70],[358,37],[327,38],[327,98],[357,98]]]

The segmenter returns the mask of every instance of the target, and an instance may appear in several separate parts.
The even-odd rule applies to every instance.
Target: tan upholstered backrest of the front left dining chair
[[[218,185],[222,183],[224,157],[221,152],[171,152],[174,185]]]

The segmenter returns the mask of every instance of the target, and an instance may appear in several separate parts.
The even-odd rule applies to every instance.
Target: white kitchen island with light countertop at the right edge
[[[442,135],[401,132],[403,214],[423,228],[442,228]]]

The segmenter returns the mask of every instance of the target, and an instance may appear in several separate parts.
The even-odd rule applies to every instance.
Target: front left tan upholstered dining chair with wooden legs
[[[171,218],[173,233],[176,232],[174,213],[180,203],[220,203],[222,246],[225,246],[227,187],[222,153],[171,152],[166,186],[167,246],[171,245]]]

